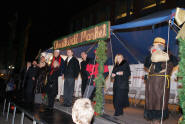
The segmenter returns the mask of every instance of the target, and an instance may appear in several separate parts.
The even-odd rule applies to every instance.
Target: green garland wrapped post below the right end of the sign
[[[96,83],[96,93],[95,93],[95,98],[94,100],[96,101],[95,104],[95,112],[96,115],[101,115],[103,113],[103,88],[104,88],[104,63],[107,60],[106,56],[106,43],[104,41],[99,41],[98,42],[98,48],[96,49],[96,61],[99,64],[98,66],[98,76],[95,78],[95,83]]]

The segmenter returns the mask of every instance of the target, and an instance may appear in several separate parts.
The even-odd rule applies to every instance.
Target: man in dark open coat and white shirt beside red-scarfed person
[[[78,77],[80,72],[80,65],[78,60],[73,56],[71,49],[67,50],[67,59],[65,60],[65,71],[64,71],[64,102],[63,105],[66,107],[72,106],[72,97],[75,86],[75,78]]]

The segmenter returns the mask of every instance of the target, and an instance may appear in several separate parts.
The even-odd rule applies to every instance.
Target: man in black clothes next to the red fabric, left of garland
[[[80,69],[80,74],[81,74],[81,78],[82,78],[82,84],[81,84],[81,93],[82,96],[85,92],[85,88],[87,86],[88,83],[88,72],[86,71],[86,66],[89,63],[89,58],[87,58],[87,53],[82,52],[81,53],[81,57],[82,57],[82,62],[80,63],[81,69]]]

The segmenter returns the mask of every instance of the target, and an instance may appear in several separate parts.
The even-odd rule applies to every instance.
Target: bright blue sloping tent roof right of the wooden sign
[[[128,23],[111,26],[111,30],[137,28],[137,27],[158,24],[158,23],[170,20],[172,17],[171,15],[173,15],[172,13],[174,12],[175,12],[175,9],[160,11]]]

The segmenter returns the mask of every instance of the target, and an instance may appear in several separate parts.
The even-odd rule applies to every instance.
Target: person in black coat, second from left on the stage
[[[36,84],[37,78],[37,61],[34,60],[32,62],[32,66],[28,69],[28,74],[26,75],[26,82],[25,82],[25,102],[27,104],[33,104],[34,102],[34,88]]]

